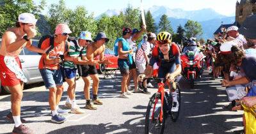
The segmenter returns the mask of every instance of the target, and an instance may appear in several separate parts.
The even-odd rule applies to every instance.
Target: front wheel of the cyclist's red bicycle
[[[154,105],[156,103],[156,108],[154,110]],[[160,104],[160,105],[159,105]],[[154,110],[154,112],[153,112]],[[146,117],[145,117],[145,134],[148,133],[163,133],[164,123],[160,121],[160,111],[161,111],[161,95],[159,93],[154,93],[148,102]],[[154,113],[154,117],[152,114]],[[164,118],[164,115],[163,115]],[[164,119],[163,119],[164,120]]]

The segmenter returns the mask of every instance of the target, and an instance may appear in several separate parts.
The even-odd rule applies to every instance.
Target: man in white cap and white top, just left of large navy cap
[[[245,38],[244,38],[244,36],[242,34],[239,34],[237,26],[230,26],[230,27],[228,27],[227,34],[228,34],[229,38],[231,38],[230,40],[232,40],[232,39],[233,40],[234,39],[241,40],[243,42],[243,47],[246,46],[246,40],[245,40]]]

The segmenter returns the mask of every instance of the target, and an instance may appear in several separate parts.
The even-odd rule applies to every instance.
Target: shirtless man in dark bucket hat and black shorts
[[[107,38],[106,34],[98,33],[94,42],[87,46],[86,57],[87,59],[93,60],[95,57],[99,56],[99,64],[112,64],[108,60],[104,59],[104,51],[106,46],[104,43],[107,43],[109,39]],[[102,105],[102,101],[97,98],[98,89],[99,89],[99,76],[97,74],[96,66],[92,65],[84,65],[82,67],[83,70],[83,80],[84,80],[84,97],[86,99],[86,106],[85,108],[95,110],[97,107],[95,105]],[[90,103],[90,77],[93,80],[92,89],[93,89],[93,105]]]

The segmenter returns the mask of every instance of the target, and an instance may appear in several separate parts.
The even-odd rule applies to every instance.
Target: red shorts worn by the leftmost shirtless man
[[[21,68],[21,63],[19,56],[15,57],[17,63],[19,64],[19,67]],[[17,84],[20,84],[20,79],[18,79],[9,68],[4,63],[4,56],[0,55],[0,79],[1,79],[1,85],[2,86],[16,86]]]

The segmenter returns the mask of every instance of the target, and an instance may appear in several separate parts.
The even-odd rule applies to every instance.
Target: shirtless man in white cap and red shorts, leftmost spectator
[[[36,19],[31,13],[21,13],[16,27],[8,29],[2,36],[2,45],[0,48],[0,78],[1,85],[10,89],[12,108],[6,116],[7,119],[14,121],[15,127],[13,133],[33,133],[28,126],[25,126],[25,120],[20,120],[20,103],[22,100],[22,90],[24,82],[27,81],[21,70],[19,54],[22,48],[45,54],[46,50],[31,45],[32,38],[36,36]]]

